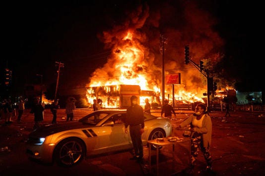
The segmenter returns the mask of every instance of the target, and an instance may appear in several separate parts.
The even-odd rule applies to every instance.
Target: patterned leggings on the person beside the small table
[[[203,153],[203,156],[206,160],[207,166],[211,166],[212,158],[210,154],[210,147],[203,147],[200,137],[195,137],[191,139],[191,165],[194,167],[199,154],[199,148]]]

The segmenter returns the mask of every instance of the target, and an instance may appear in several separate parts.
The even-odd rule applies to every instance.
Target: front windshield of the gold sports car
[[[78,122],[82,122],[89,125],[96,125],[99,123],[102,119],[104,119],[109,113],[106,112],[93,112],[91,114],[88,114],[87,116],[81,118],[78,120]]]

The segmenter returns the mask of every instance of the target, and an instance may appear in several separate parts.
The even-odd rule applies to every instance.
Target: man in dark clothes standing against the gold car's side
[[[125,132],[128,132],[130,125],[130,135],[133,142],[134,156],[130,160],[136,160],[138,163],[143,162],[143,146],[141,134],[144,132],[143,108],[137,104],[138,98],[131,97],[131,106],[127,109],[125,119]]]

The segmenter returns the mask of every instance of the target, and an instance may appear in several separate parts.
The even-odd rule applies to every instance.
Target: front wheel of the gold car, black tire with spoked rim
[[[85,157],[85,146],[78,138],[62,140],[54,150],[54,159],[59,166],[71,167]]]

